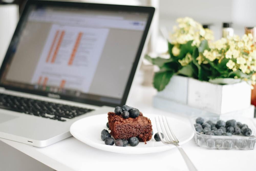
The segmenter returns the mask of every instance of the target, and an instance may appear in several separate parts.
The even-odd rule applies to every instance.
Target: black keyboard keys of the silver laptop
[[[63,105],[1,93],[0,108],[59,121],[66,121],[66,118],[72,119],[87,112],[93,111],[93,109]]]

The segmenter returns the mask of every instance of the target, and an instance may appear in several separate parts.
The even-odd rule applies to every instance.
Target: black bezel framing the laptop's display
[[[111,10],[111,11],[125,11],[125,12],[145,12],[148,13],[148,19],[146,22],[146,26],[145,26],[145,30],[143,32],[142,35],[142,39],[140,42],[140,45],[138,47],[137,53],[136,53],[136,57],[134,60],[134,64],[132,66],[132,70],[130,72],[125,90],[124,90],[124,94],[123,97],[121,99],[121,103],[120,104],[116,104],[113,102],[104,102],[104,101],[97,101],[97,100],[91,100],[91,99],[84,99],[84,98],[79,98],[79,97],[75,97],[75,96],[68,96],[68,95],[64,95],[64,94],[60,94],[60,93],[51,93],[51,92],[45,92],[45,91],[41,91],[41,90],[32,90],[32,89],[25,89],[25,88],[19,88],[19,87],[15,87],[15,86],[10,86],[10,85],[4,85],[2,83],[2,78],[4,76],[4,70],[6,68],[6,65],[9,62],[9,58],[11,56],[11,50],[12,50],[12,44],[15,44],[15,40],[17,40],[18,36],[19,36],[19,32],[22,29],[22,25],[24,22],[26,22],[26,14],[29,12],[29,6],[30,5],[44,5],[44,6],[56,6],[56,7],[75,7],[75,8],[80,8],[80,9],[99,9],[99,10]],[[131,88],[131,84],[135,75],[135,71],[138,65],[138,62],[140,60],[140,56],[143,50],[143,46],[147,37],[147,33],[148,30],[150,28],[150,24],[153,18],[153,14],[154,14],[155,8],[153,7],[143,7],[143,6],[127,6],[127,5],[112,5],[112,4],[94,4],[94,3],[78,3],[78,2],[60,2],[60,1],[38,1],[38,0],[28,0],[22,15],[20,16],[19,22],[17,24],[17,27],[15,29],[14,35],[12,37],[12,40],[10,42],[10,45],[7,49],[5,58],[3,60],[3,63],[1,65],[1,69],[0,69],[0,86],[4,87],[7,90],[14,90],[14,91],[18,91],[18,92],[23,92],[23,93],[30,93],[30,94],[35,94],[35,95],[40,95],[40,96],[46,96],[48,97],[48,94],[56,94],[59,95],[58,97],[60,97],[59,99],[63,99],[63,100],[69,100],[69,101],[74,101],[74,102],[80,102],[80,103],[85,103],[85,104],[90,104],[90,105],[96,105],[96,106],[121,106],[124,105],[130,88]]]

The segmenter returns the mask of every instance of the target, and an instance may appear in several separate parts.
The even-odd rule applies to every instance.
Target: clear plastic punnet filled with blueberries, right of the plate
[[[190,118],[191,126],[195,133],[194,139],[197,145],[206,147],[208,149],[219,150],[254,149],[256,144],[256,124],[251,119],[243,117],[217,116],[211,114],[200,117],[200,119],[197,119],[198,116],[192,116]],[[214,129],[210,130],[209,125],[206,123],[211,125],[211,128]],[[197,130],[195,129],[194,124],[197,126]],[[202,131],[199,128],[199,124],[204,124]],[[217,130],[215,127],[213,127],[214,124]],[[224,132],[226,132],[226,134],[229,136],[222,135]]]

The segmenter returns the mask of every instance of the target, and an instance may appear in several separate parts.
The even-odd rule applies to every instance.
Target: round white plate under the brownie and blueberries
[[[153,131],[155,134],[157,132],[155,123],[156,115],[144,113],[143,115],[151,120]],[[166,118],[180,144],[184,144],[188,142],[191,138],[193,138],[194,132],[190,124],[187,124],[184,121],[176,118]],[[126,147],[115,146],[115,144],[113,146],[105,145],[104,141],[101,140],[100,136],[103,129],[108,129],[106,127],[107,122],[108,115],[106,113],[86,117],[74,122],[70,127],[70,133],[76,139],[94,148],[120,154],[148,154],[169,150],[175,147],[174,145],[164,145],[161,141],[157,142],[155,141],[154,137],[152,137],[150,141],[147,141],[147,144],[144,144],[144,142],[140,142],[135,147],[132,147],[130,145]]]

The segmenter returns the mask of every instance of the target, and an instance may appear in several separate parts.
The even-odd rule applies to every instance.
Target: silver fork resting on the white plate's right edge
[[[156,128],[159,133],[159,137],[160,137],[161,141],[166,145],[170,145],[170,144],[176,145],[176,147],[178,147],[178,150],[179,150],[180,154],[182,155],[188,169],[191,171],[196,171],[197,170],[196,167],[191,162],[191,160],[189,159],[189,157],[187,156],[185,151],[182,149],[182,147],[179,145],[179,141],[176,138],[176,136],[174,135],[173,130],[171,129],[170,124],[168,123],[166,117],[162,116],[162,119],[160,116],[155,117],[155,121],[156,121]],[[162,132],[164,134],[164,138],[162,138],[162,135],[160,132]]]

